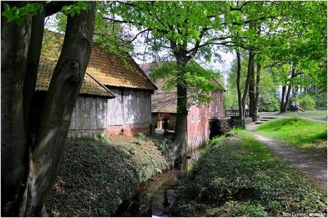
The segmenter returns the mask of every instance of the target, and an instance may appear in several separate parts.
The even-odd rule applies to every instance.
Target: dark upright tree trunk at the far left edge
[[[26,2],[8,3],[23,7]],[[23,84],[31,34],[31,18],[21,25],[1,23],[1,198],[2,214],[17,216],[17,193],[27,175]],[[24,190],[24,188],[23,188]]]

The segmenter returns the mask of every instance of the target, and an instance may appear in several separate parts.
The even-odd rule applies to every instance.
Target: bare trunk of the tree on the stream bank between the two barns
[[[174,131],[173,156],[180,161],[183,152],[187,149],[187,82],[185,80],[187,60],[176,54],[178,66],[177,81],[177,116]]]

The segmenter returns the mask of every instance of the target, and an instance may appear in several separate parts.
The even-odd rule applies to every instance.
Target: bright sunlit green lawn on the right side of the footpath
[[[281,118],[256,127],[259,134],[296,147],[304,154],[327,157],[327,124],[298,118]]]

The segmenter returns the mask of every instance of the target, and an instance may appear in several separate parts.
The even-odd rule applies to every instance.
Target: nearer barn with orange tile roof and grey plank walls
[[[63,35],[45,34],[36,84],[37,98],[48,90]],[[91,57],[76,102],[69,135],[147,133],[151,123],[151,95],[156,86],[132,57],[123,60],[93,43]]]

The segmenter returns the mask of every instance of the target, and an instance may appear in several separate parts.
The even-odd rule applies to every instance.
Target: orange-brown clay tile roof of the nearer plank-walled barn
[[[64,36],[59,33],[45,32],[36,90],[48,90],[63,40]],[[110,56],[96,43],[93,43],[87,72],[80,94],[114,97],[105,85],[147,90],[157,89],[132,57],[129,56],[126,61],[123,61],[121,58]]]

